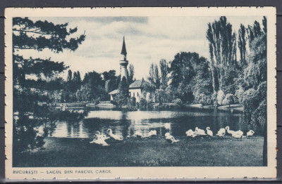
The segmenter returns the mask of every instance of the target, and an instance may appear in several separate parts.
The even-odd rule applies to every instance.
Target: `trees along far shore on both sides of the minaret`
[[[200,57],[198,53],[181,52],[170,62],[162,59],[159,65],[152,64],[149,67],[148,81],[156,89],[155,101],[180,105],[243,104],[247,91],[257,91],[260,84],[266,82],[265,17],[262,22],[262,28],[259,22],[255,21],[247,27],[240,25],[238,32],[234,32],[226,17],[221,17],[207,25],[209,59]],[[58,73],[68,68],[61,63],[54,64],[56,70],[60,68]],[[47,67],[44,64],[38,66]],[[28,67],[25,73],[34,72],[36,68]],[[134,67],[130,65],[128,84],[133,82],[133,77]],[[25,86],[61,89],[61,97],[56,99],[60,102],[99,101],[109,100],[108,93],[117,89],[121,81],[115,70],[103,73],[88,72],[84,79],[80,77],[79,71],[68,70],[66,81],[53,78],[49,81],[42,77],[37,81],[25,79]]]

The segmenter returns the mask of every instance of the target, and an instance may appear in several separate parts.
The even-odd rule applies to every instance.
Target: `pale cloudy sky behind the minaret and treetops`
[[[238,33],[240,24],[253,25],[257,20],[262,26],[262,16],[226,17]],[[165,59],[171,61],[181,51],[197,52],[209,59],[209,43],[206,39],[207,24],[219,17],[91,17],[91,18],[30,18],[47,20],[54,24],[68,22],[69,28],[78,27],[71,37],[86,35],[76,51],[53,53],[25,50],[19,54],[25,58],[51,58],[64,62],[69,69],[80,71],[82,79],[87,72],[102,73],[116,70],[119,74],[123,36],[129,64],[135,67],[135,79],[149,75],[151,63]],[[67,77],[67,71],[62,75]]]

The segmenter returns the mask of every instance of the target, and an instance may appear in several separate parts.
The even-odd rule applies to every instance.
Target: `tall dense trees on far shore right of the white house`
[[[208,24],[209,60],[198,53],[181,52],[169,63],[152,64],[148,79],[157,88],[157,100],[215,106],[240,103],[247,112],[250,93],[266,99],[265,17],[262,22],[262,28],[257,21],[240,25],[237,33],[221,17]]]

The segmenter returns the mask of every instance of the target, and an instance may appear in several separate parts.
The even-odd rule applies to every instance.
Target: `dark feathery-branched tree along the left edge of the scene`
[[[16,79],[15,84],[20,86],[13,88],[13,110],[20,114],[18,119],[13,121],[13,143],[17,145],[14,148],[18,151],[42,146],[44,137],[48,136],[58,117],[56,116],[57,111],[52,105],[54,101],[50,96],[44,95],[41,91],[31,91],[25,85],[27,76],[34,75],[38,80],[51,81],[67,68],[63,63],[51,61],[50,58],[47,60],[25,59],[18,54],[18,51],[27,49],[36,51],[49,49],[55,53],[63,52],[64,49],[75,51],[85,40],[85,34],[78,38],[69,38],[78,29],[76,27],[67,29],[67,27],[68,23],[54,25],[47,21],[34,22],[29,18],[13,18],[13,66],[15,66],[13,67],[13,75]],[[27,115],[27,112],[33,112],[32,119]],[[25,123],[29,125],[25,126]],[[40,135],[37,128],[42,125],[44,125],[44,134]]]

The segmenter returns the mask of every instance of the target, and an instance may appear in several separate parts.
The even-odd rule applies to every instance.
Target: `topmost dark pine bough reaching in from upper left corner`
[[[68,23],[54,25],[47,20],[33,22],[29,18],[13,18],[13,48],[37,51],[49,48],[56,53],[63,52],[63,49],[75,51],[85,40],[85,34],[68,39],[78,28],[67,29],[67,26]]]

